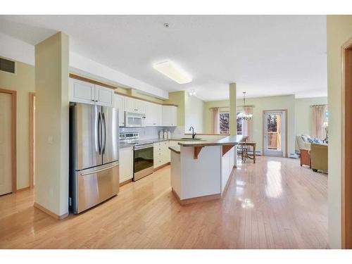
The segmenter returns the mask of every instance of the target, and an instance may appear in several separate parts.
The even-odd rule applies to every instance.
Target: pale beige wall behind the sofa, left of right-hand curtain
[[[327,97],[301,98],[295,100],[295,134],[312,134],[313,108],[315,104],[327,104]],[[296,150],[298,150],[296,142]]]

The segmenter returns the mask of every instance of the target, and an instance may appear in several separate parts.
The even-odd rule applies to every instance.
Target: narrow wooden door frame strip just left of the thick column
[[[30,189],[34,187],[34,162],[35,162],[35,115],[34,115],[35,93],[30,92]]]

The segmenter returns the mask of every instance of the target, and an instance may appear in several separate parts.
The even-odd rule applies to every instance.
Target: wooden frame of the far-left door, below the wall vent
[[[12,192],[17,191],[17,159],[16,159],[16,122],[17,122],[17,92],[0,88],[0,93],[11,94],[11,170]]]

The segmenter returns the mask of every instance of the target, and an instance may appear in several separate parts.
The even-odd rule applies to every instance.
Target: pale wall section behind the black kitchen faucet
[[[189,127],[194,127],[196,133],[203,131],[203,101],[196,96],[184,94],[184,130],[189,133]]]

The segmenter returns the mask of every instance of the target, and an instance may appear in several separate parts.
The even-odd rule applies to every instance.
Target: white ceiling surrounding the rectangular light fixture
[[[228,99],[230,82],[239,97],[327,96],[325,15],[0,16],[0,32],[30,44],[57,31],[77,54],[168,92],[195,89],[205,101]],[[153,69],[165,60],[193,81]]]

